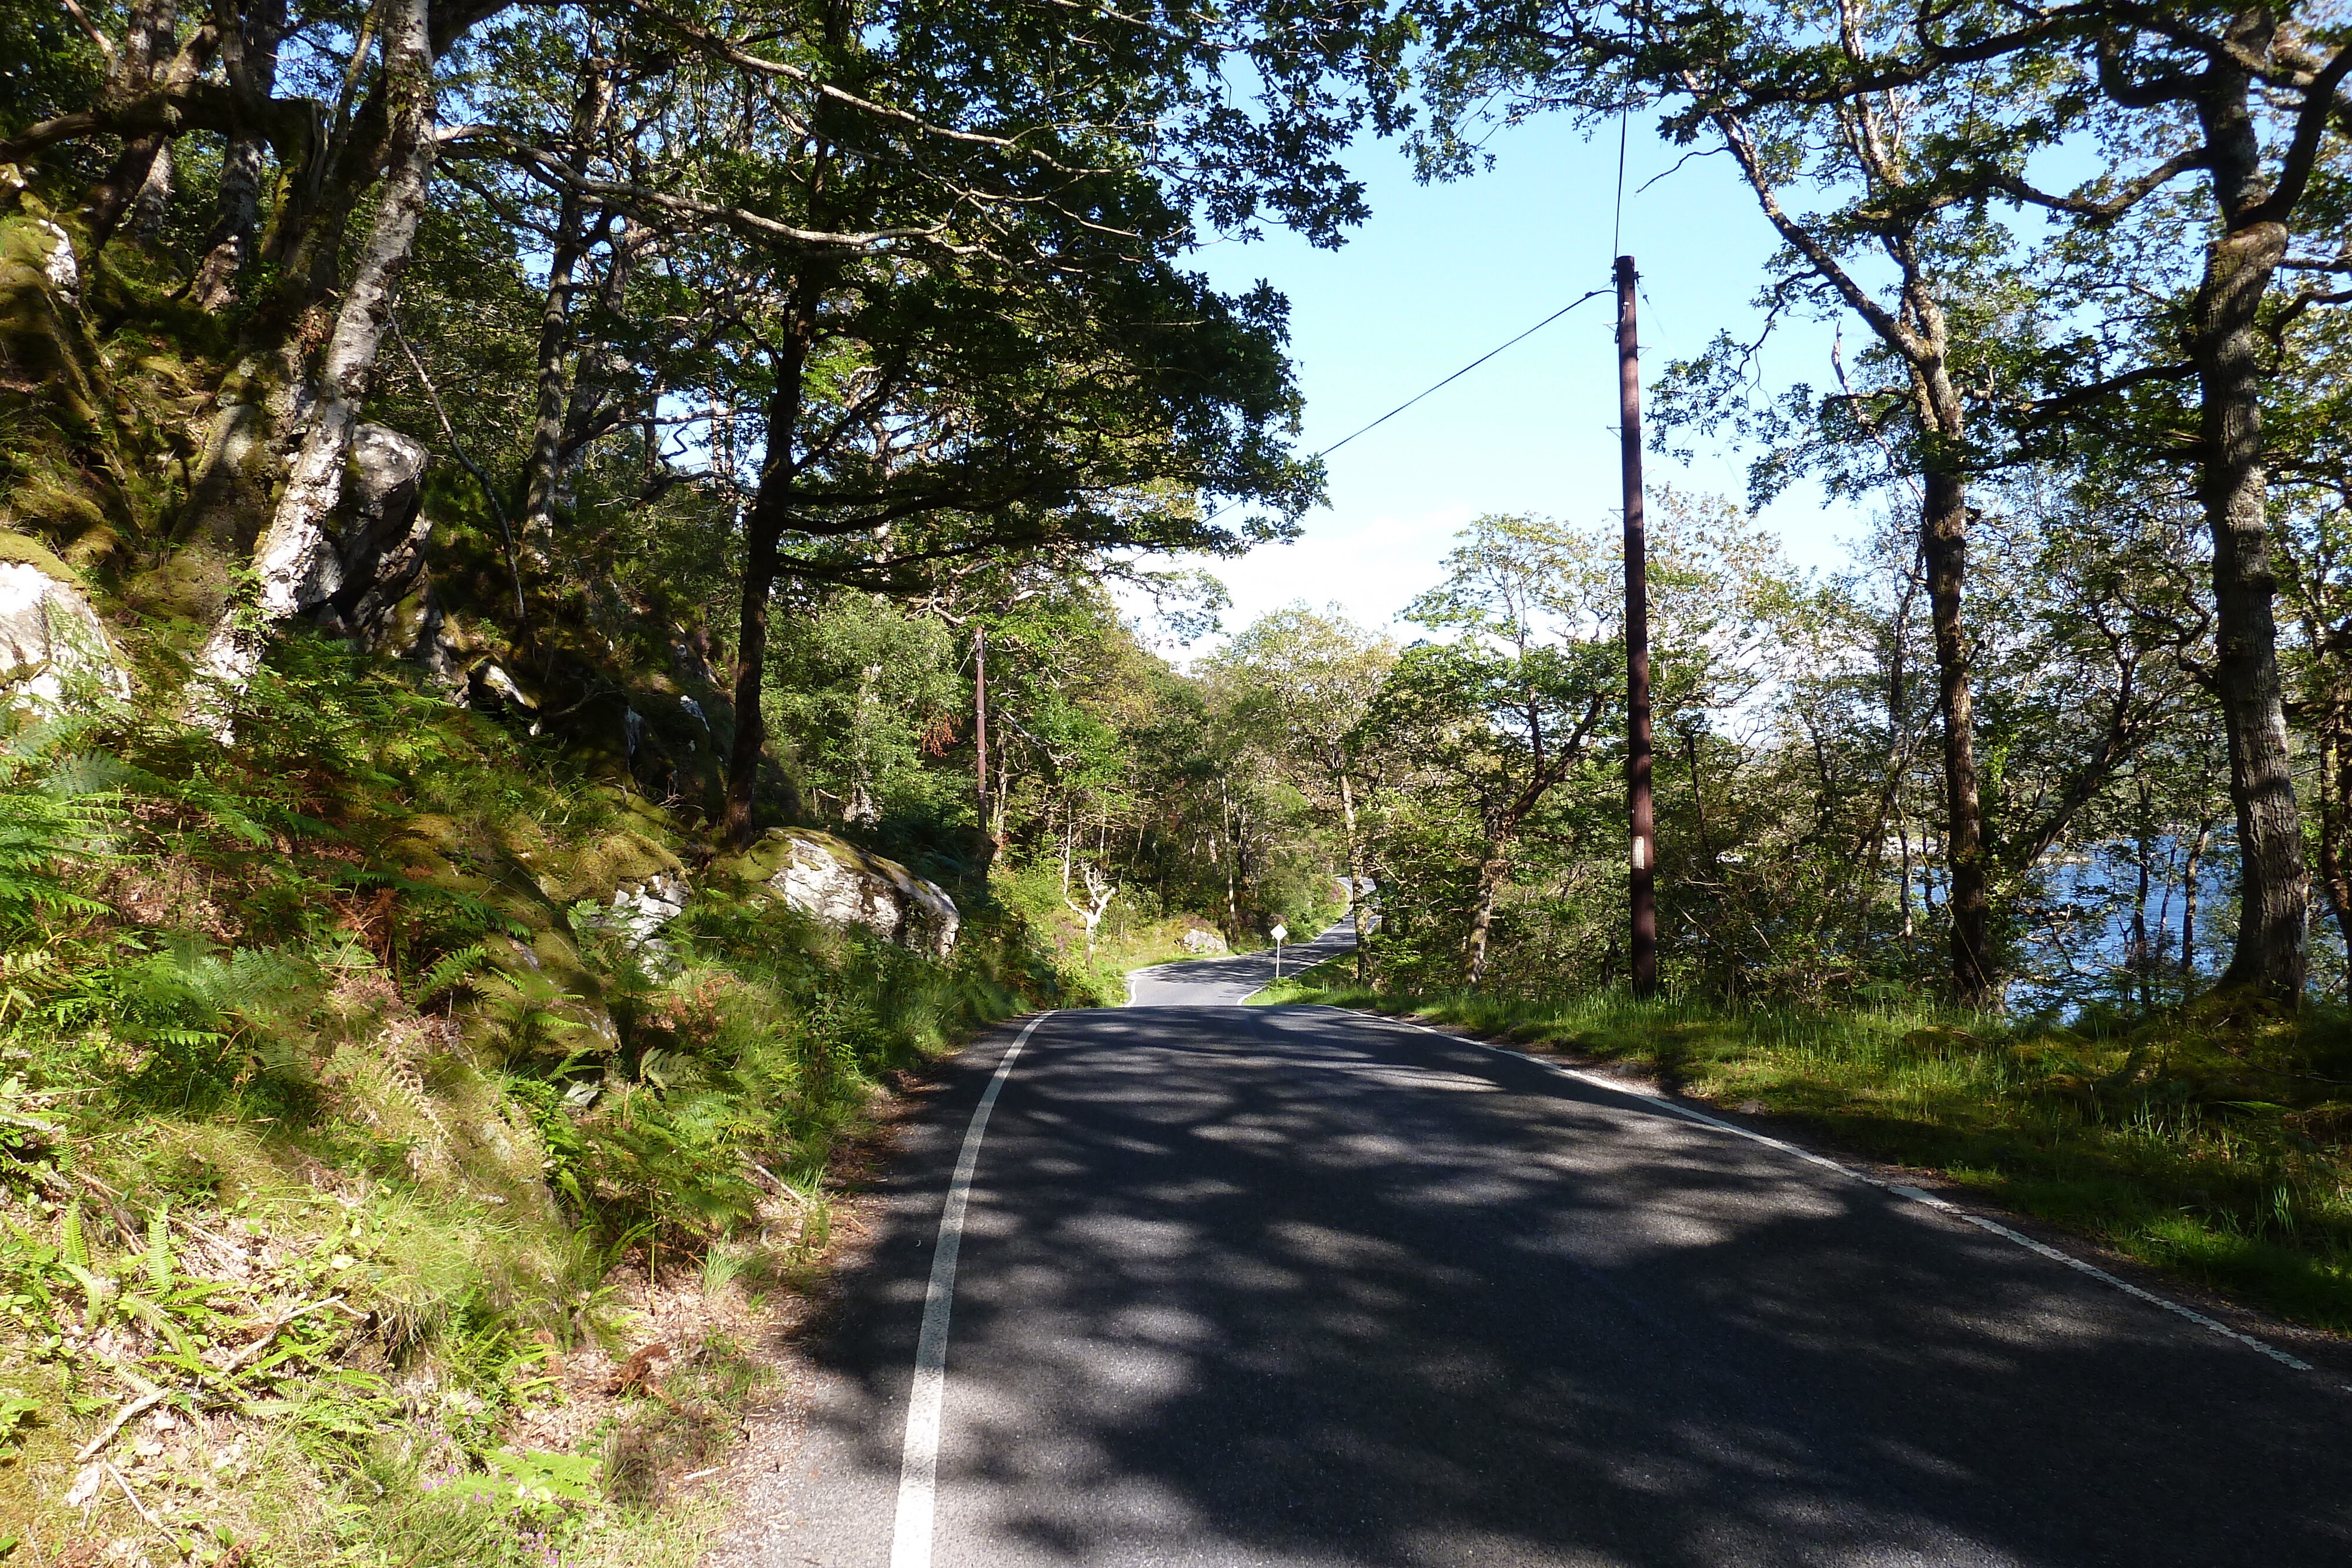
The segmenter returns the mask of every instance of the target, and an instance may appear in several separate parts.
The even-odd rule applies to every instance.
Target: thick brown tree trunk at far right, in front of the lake
[[[2230,33],[2234,42],[2260,49],[2274,28],[2270,12],[2249,9]],[[2272,618],[2277,574],[2270,564],[2263,348],[2256,331],[2263,294],[2286,256],[2286,223],[2249,219],[2270,195],[2260,186],[2251,78],[2216,63],[2204,80],[2197,113],[2225,233],[2206,247],[2204,280],[2190,308],[2187,355],[2197,367],[2197,501],[2213,531],[2213,675],[2230,736],[2230,804],[2237,809],[2241,867],[2237,952],[2220,983],[2293,1004],[2303,997],[2310,964],[2310,870],[2303,863]]]

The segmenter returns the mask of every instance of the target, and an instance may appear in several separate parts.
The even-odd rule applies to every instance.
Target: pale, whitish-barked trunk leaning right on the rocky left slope
[[[360,423],[383,320],[393,308],[393,284],[416,244],[433,179],[433,42],[426,0],[386,5],[383,87],[390,113],[383,193],[320,360],[301,451],[270,527],[254,545],[259,592],[252,607],[228,604],[221,611],[188,682],[191,712],[205,717],[221,738],[228,736],[226,708],[261,663],[268,632],[334,590],[327,517],[343,496],[350,433]]]

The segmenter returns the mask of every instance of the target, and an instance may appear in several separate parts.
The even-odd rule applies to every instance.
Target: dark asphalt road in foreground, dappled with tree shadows
[[[2352,1566],[2340,1373],[1251,961],[960,1058],[720,1561]]]

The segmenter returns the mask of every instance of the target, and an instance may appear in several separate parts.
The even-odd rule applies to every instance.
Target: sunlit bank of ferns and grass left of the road
[[[623,1359],[633,1302],[788,1286],[882,1079],[1063,976],[1016,917],[936,964],[701,875],[320,639],[235,733],[0,741],[0,1561],[691,1561],[668,1479],[760,1368]]]

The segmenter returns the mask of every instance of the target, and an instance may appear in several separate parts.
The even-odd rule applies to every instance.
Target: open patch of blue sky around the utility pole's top
[[[1291,350],[1317,451],[1432,381],[1609,284],[1616,136],[1583,141],[1562,122],[1494,139],[1486,174],[1421,186],[1395,146],[1367,143],[1355,169],[1371,219],[1336,252],[1284,233],[1197,252],[1221,287],[1261,277],[1291,301]],[[1635,122],[1628,139],[1623,249],[1642,270],[1644,381],[1717,331],[1752,334],[1771,230],[1738,172],[1677,150]],[[1651,176],[1665,174],[1642,190]],[[1851,334],[1849,334],[1851,336]],[[1477,512],[1592,522],[1618,505],[1613,306],[1597,299],[1329,458],[1331,505],[1305,538],[1214,562],[1232,592],[1228,628],[1308,599],[1383,625],[1432,583],[1456,529]],[[1830,381],[1830,327],[1783,324],[1764,353],[1771,386]],[[1745,494],[1745,461],[1698,451],[1689,468],[1649,458],[1649,482]],[[1832,567],[1863,534],[1851,508],[1825,512],[1795,489],[1764,512],[1788,555]],[[1409,628],[1399,628],[1409,630]]]

